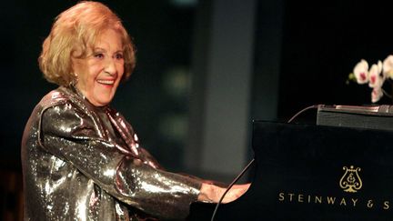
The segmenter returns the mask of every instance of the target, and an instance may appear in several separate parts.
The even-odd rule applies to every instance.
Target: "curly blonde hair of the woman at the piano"
[[[121,36],[125,59],[122,81],[126,80],[136,65],[133,42],[115,13],[106,5],[92,1],[80,2],[55,18],[38,58],[45,79],[56,85],[74,82],[76,75],[73,74],[71,56],[86,57],[87,49],[93,48],[97,36],[108,28]],[[74,55],[76,50],[82,53]]]

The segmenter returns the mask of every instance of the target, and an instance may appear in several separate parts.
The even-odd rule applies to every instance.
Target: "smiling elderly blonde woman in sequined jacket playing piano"
[[[180,219],[190,203],[223,194],[166,172],[109,106],[135,63],[130,37],[106,5],[82,2],[57,16],[39,65],[59,87],[35,106],[22,141],[26,220]]]

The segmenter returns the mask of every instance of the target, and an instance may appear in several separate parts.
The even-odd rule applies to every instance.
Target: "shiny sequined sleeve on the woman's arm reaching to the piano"
[[[100,135],[94,120],[72,104],[47,108],[40,122],[41,146],[118,200],[165,218],[185,217],[189,204],[196,201],[200,180],[127,156],[118,150],[119,144]]]

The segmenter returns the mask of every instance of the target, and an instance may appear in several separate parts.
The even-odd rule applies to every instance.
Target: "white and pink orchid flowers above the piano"
[[[369,69],[368,62],[361,59],[358,64],[355,65],[353,73],[348,75],[348,80],[356,81],[359,85],[368,83],[368,86],[372,88],[372,103],[378,102],[383,95],[392,98],[382,86],[385,81],[393,85],[393,55],[388,55],[383,62],[378,61],[377,64],[371,65]]]

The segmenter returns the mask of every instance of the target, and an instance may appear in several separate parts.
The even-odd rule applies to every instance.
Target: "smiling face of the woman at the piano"
[[[76,50],[76,54],[80,53]],[[96,106],[109,104],[124,74],[123,44],[119,34],[106,29],[86,56],[72,57],[76,88]]]

